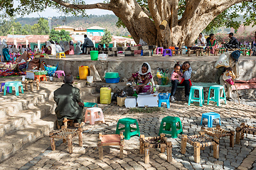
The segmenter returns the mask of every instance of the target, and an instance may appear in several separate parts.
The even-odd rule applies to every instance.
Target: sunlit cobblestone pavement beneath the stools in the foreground
[[[120,118],[136,118],[141,134],[156,136],[159,133],[161,119],[167,115],[181,118],[183,132],[196,135],[201,129],[201,114],[209,111],[220,113],[222,128],[235,130],[240,123],[256,125],[256,108],[247,105],[228,103],[217,106],[187,106],[185,102],[171,103],[171,108],[164,108],[158,113],[131,113],[129,109],[116,105],[99,105],[105,115],[105,124],[86,123],[83,128],[83,147],[78,146],[78,139],[73,140],[74,152],[68,154],[67,144],[62,140],[56,142],[56,150],[50,149],[50,140],[43,137],[33,145],[18,152],[14,157],[0,164],[0,169],[256,169],[256,138],[245,135],[240,145],[229,147],[229,138],[220,139],[220,157],[213,158],[213,147],[201,151],[201,162],[193,161],[193,147],[187,145],[186,154],[181,154],[181,135],[173,139],[173,162],[166,162],[166,152],[150,149],[150,163],[144,164],[144,155],[139,154],[139,137],[125,140],[124,158],[119,159],[119,147],[103,147],[104,159],[98,159],[97,136],[113,134],[117,120]],[[214,122],[218,124],[218,120]],[[203,120],[207,126],[207,120]]]

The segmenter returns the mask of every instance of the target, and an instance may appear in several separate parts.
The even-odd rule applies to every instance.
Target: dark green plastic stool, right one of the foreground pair
[[[164,123],[166,123],[166,125],[164,125]],[[178,123],[178,126],[176,123]],[[177,138],[178,134],[183,133],[181,119],[173,116],[167,116],[163,118],[161,120],[159,135],[161,133],[166,133],[171,135],[172,138]]]

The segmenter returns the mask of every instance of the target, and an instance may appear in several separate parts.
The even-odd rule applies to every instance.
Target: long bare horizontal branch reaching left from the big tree
[[[112,11],[111,4],[104,4],[104,3],[97,3],[97,4],[87,4],[87,5],[76,5],[76,4],[69,4],[65,1],[61,0],[52,0],[55,3],[60,4],[61,6],[65,6],[67,8],[73,9],[92,9],[92,8],[100,8]]]

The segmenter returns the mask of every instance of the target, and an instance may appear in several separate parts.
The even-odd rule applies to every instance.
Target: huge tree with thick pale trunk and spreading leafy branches
[[[142,38],[149,45],[164,47],[192,45],[207,26],[238,28],[240,23],[234,21],[238,11],[244,14],[245,24],[255,23],[256,7],[255,0],[107,0],[97,4],[85,4],[82,0],[19,0],[19,3],[17,8],[8,2],[0,5],[10,15],[43,11],[46,7],[74,15],[86,15],[85,10],[92,8],[110,10],[136,42]],[[161,30],[159,26],[164,20],[167,25]]]

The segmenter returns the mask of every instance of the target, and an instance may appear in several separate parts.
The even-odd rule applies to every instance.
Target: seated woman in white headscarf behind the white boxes
[[[135,86],[137,94],[139,93],[153,94],[154,92],[153,85],[150,82],[150,79],[152,79],[151,67],[149,63],[144,62],[142,64],[142,67],[139,69],[139,72],[132,74],[132,77],[130,77],[128,81],[134,81],[134,79],[137,79],[137,86]]]

